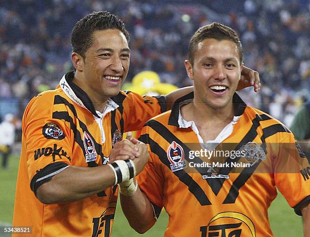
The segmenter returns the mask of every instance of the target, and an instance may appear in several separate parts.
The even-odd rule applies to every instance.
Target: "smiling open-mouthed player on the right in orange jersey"
[[[193,93],[146,123],[139,140],[149,161],[135,191],[121,188],[130,225],[147,231],[164,207],[165,236],[273,236],[267,209],[278,187],[309,236],[308,160],[283,124],[236,94],[243,68],[237,33],[219,23],[203,26],[188,57]]]

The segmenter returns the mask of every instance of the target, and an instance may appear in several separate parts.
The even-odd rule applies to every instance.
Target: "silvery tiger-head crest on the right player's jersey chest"
[[[244,158],[253,166],[259,160],[266,159],[265,151],[262,147],[255,142],[248,142],[246,145],[241,146],[240,151],[244,151]]]

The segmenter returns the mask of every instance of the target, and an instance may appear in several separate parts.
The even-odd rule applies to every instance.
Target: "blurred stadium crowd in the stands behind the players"
[[[240,92],[249,105],[290,126],[309,100],[309,2],[306,0],[16,0],[0,6],[0,120],[22,116],[31,97],[55,88],[72,68],[69,44],[74,23],[92,11],[119,15],[131,34],[127,80],[142,70],[162,82],[191,84],[183,65],[189,37],[217,21],[237,29],[245,65],[259,71],[263,88]]]

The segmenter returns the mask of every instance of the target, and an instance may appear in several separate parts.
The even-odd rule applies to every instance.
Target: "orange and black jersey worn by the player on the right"
[[[238,121],[216,149],[208,149],[225,152],[208,153],[202,148],[210,144],[179,123],[179,102],[192,97],[148,121],[139,138],[150,159],[136,178],[156,215],[162,207],[169,214],[165,236],[273,236],[267,209],[276,187],[301,215],[310,200],[309,161],[283,124],[237,94]]]

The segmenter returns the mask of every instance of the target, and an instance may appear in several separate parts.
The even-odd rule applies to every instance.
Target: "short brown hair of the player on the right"
[[[206,38],[214,38],[217,41],[228,40],[237,45],[240,63],[243,60],[243,49],[237,32],[230,27],[213,22],[209,25],[200,27],[190,38],[188,46],[188,60],[193,65],[195,50],[198,43],[202,42]]]

